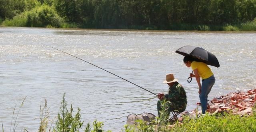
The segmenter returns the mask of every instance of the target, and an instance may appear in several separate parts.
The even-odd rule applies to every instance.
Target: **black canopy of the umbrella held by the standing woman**
[[[204,62],[208,65],[215,66],[217,68],[220,67],[219,61],[216,56],[203,48],[187,45],[181,47],[175,52],[183,56],[192,56],[200,62]]]

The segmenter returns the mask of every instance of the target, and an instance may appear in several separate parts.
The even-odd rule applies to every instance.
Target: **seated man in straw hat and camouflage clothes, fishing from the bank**
[[[185,111],[187,106],[187,95],[182,85],[177,81],[178,80],[174,78],[173,74],[166,75],[166,80],[163,83],[169,85],[169,91],[168,94],[158,93],[158,99],[160,100],[157,102],[157,112],[159,117],[160,111],[162,110],[161,101],[163,99],[168,101],[168,115],[170,115],[171,111],[179,113]]]

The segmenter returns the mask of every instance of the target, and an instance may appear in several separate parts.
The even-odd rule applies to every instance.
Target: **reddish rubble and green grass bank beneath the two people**
[[[256,89],[222,95],[210,101],[206,114],[202,115],[195,109],[186,111],[178,119],[170,121],[157,117],[149,125],[138,122],[136,126],[126,126],[126,132],[133,132],[134,129],[142,132],[254,132],[255,94]]]

